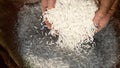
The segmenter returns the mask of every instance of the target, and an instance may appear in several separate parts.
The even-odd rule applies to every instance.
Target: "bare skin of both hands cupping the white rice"
[[[55,1],[56,0],[42,0],[42,12],[45,12],[47,9],[51,9],[55,7]],[[98,28],[97,32],[102,30],[110,21],[112,18],[116,7],[118,0],[98,0],[98,10],[95,13],[95,16],[93,18],[93,22]],[[48,29],[51,28],[51,24],[46,19],[45,21]]]

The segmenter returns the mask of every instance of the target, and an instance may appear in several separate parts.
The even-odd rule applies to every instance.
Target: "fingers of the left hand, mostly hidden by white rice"
[[[47,11],[47,9],[54,8],[55,1],[56,0],[41,0],[42,12],[44,13],[45,11]],[[51,29],[51,24],[49,23],[49,21],[47,19],[45,20],[45,24],[47,25],[48,29]]]

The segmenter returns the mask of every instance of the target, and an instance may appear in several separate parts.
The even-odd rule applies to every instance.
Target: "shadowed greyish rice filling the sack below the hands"
[[[56,45],[58,36],[48,34],[40,3],[24,5],[18,13],[16,25],[23,68],[114,68],[119,44],[116,43],[113,23],[110,21],[105,29],[95,34],[94,48],[83,45],[78,54],[77,50]]]

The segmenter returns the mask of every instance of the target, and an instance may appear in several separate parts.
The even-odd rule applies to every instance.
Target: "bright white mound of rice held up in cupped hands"
[[[43,16],[52,24],[51,34],[58,31],[57,44],[74,49],[93,42],[96,27],[92,19],[96,10],[94,0],[56,0],[55,8],[48,9]]]

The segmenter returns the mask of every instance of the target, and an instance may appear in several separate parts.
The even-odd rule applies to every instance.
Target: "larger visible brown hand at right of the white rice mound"
[[[102,30],[113,16],[118,0],[99,0],[98,10],[94,16],[93,22],[98,27],[97,32]]]

